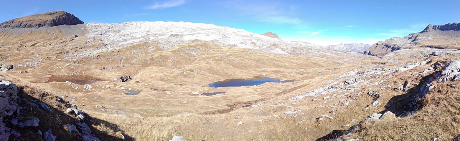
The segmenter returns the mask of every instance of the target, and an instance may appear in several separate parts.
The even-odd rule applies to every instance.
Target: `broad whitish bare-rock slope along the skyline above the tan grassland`
[[[243,29],[188,22],[86,23],[86,36],[104,39],[108,48],[157,41],[163,49],[195,39],[224,46],[261,50],[274,54],[337,56],[344,52],[300,41],[288,41],[255,34]],[[97,52],[97,51],[96,51]],[[345,54],[345,53],[344,53]]]

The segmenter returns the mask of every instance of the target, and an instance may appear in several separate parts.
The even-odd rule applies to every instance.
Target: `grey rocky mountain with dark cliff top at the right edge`
[[[380,41],[364,51],[366,55],[384,56],[392,51],[413,48],[440,48],[440,49],[459,49],[460,48],[460,25],[458,23],[448,23],[445,25],[428,25],[423,31],[412,33],[408,36],[398,38],[393,37]]]

